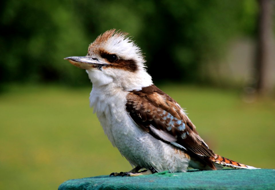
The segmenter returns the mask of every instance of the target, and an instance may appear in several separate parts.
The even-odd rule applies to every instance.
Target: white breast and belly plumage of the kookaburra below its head
[[[129,92],[108,86],[93,86],[90,106],[97,113],[105,134],[121,155],[132,166],[153,166],[157,171],[186,171],[189,160],[185,156],[176,154],[172,146],[157,140],[133,122],[125,109]]]

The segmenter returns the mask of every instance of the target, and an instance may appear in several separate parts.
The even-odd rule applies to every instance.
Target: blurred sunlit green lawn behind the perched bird
[[[275,168],[275,101],[245,103],[237,92],[160,86],[215,153]],[[57,189],[73,178],[131,169],[89,108],[91,88],[6,87],[0,94],[0,189]]]

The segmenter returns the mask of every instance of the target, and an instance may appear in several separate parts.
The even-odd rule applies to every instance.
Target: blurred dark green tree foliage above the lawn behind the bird
[[[3,0],[0,80],[87,84],[63,60],[85,55],[100,33],[121,29],[145,52],[154,80],[196,81],[226,43],[256,33],[256,0]],[[158,69],[156,69],[158,68]]]

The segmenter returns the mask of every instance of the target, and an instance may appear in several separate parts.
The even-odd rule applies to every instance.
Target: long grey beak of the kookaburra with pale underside
[[[92,69],[107,65],[106,63],[99,62],[97,58],[94,58],[92,56],[74,56],[66,57],[64,59],[68,59],[71,64],[82,69]]]

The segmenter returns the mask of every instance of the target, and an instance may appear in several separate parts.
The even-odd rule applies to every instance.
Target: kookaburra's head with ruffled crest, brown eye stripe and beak
[[[71,64],[86,69],[93,86],[111,84],[123,90],[140,90],[152,84],[140,48],[127,33],[115,29],[99,35],[86,56],[66,57]]]

